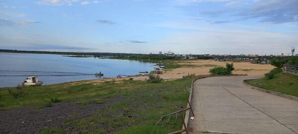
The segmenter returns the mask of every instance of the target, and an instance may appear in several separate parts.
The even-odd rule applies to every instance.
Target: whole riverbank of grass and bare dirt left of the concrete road
[[[148,134],[161,116],[187,106],[193,78],[1,88],[0,133]],[[174,120],[152,134],[181,129],[180,120]]]

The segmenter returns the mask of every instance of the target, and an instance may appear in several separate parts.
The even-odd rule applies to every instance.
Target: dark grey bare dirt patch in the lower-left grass
[[[65,120],[73,115],[76,119],[91,116],[94,112],[101,112],[110,107],[110,104],[122,101],[121,96],[110,98],[107,103],[79,105],[75,103],[55,103],[52,107],[38,108],[36,106],[21,107],[12,110],[0,111],[0,134],[36,134],[46,128],[62,128],[71,134],[77,129],[65,124]],[[107,126],[100,126],[107,127]]]

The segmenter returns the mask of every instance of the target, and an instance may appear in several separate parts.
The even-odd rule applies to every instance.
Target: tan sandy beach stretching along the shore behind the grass
[[[162,74],[159,74],[161,78],[165,80],[178,79],[182,78],[182,76],[186,76],[189,74],[195,75],[207,75],[209,73],[209,69],[216,66],[225,66],[226,63],[233,63],[235,70],[233,74],[247,74],[247,75],[262,75],[269,72],[274,67],[271,65],[261,65],[261,64],[251,64],[247,62],[219,62],[214,60],[189,60],[189,61],[179,61],[177,64],[179,65],[192,65],[191,67],[180,67],[175,69],[165,69],[161,70]],[[153,68],[152,68],[153,69]],[[148,76],[133,76],[134,80],[145,80],[148,79]],[[128,77],[122,78],[104,78],[104,79],[93,79],[86,80],[84,83],[97,83],[97,82],[105,82],[105,81],[120,81],[123,79],[128,79]],[[79,83],[74,82],[72,84]]]

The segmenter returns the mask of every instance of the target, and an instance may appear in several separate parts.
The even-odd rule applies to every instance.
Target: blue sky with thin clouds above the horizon
[[[298,0],[0,0],[0,49],[298,54]]]

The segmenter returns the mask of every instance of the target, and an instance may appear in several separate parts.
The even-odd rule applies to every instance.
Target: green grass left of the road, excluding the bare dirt
[[[160,83],[126,80],[120,83],[105,82],[98,85],[64,83],[22,89],[0,88],[0,108],[11,109],[25,105],[37,105],[42,108],[55,97],[62,102],[75,102],[79,105],[108,103],[106,101],[108,98],[119,96],[124,98],[124,101],[112,104],[103,113],[94,113],[84,119],[70,118],[65,123],[74,125],[79,132],[83,133],[148,134],[161,116],[186,107],[191,81],[192,78]],[[13,92],[22,91],[26,95],[16,99],[8,93],[8,89]],[[137,118],[129,118],[127,115]],[[172,120],[174,118],[171,118]],[[175,125],[173,122],[161,124],[152,134],[181,129],[179,121]],[[109,129],[98,128],[97,126],[101,124],[108,125]],[[50,128],[45,130],[44,134],[52,132],[64,132],[64,130]]]

